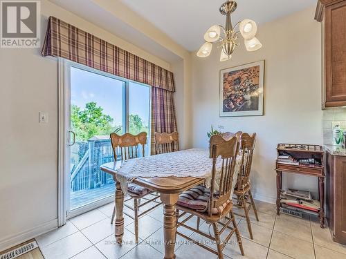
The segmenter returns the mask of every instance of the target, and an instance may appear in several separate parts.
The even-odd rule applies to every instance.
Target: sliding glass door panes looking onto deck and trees
[[[71,62],[65,64],[69,218],[113,200],[113,178],[100,171],[101,164],[114,161],[110,133],[147,132],[145,154],[149,154],[150,88]]]

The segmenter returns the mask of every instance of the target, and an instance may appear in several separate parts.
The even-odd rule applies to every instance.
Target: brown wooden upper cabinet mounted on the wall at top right
[[[322,108],[346,106],[346,0],[318,0],[322,23]]]

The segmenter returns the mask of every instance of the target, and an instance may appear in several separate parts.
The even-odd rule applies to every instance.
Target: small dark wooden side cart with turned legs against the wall
[[[323,148],[318,145],[310,144],[277,144],[277,157],[281,155],[289,155],[295,159],[295,163],[289,164],[276,160],[276,213],[280,215],[280,208],[282,202],[280,196],[282,193],[282,173],[298,173],[300,175],[315,176],[318,178],[318,193],[320,208],[316,213],[320,218],[320,227],[325,227],[325,170],[323,166]],[[302,160],[311,160],[309,164],[306,162],[303,164]],[[313,162],[312,162],[313,161]],[[284,204],[285,207],[290,207]],[[292,207],[293,208],[293,207]],[[294,209],[297,209],[294,207]],[[300,209],[304,211],[304,209]],[[309,211],[313,213],[313,211]]]

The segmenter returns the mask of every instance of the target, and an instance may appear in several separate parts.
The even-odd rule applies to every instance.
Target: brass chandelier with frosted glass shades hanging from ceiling
[[[219,41],[221,43],[217,48],[222,48],[220,61],[226,61],[232,57],[232,53],[236,46],[239,33],[244,38],[246,50],[255,51],[262,48],[262,44],[255,37],[257,25],[255,21],[244,19],[239,21],[235,26],[232,26],[230,14],[237,9],[236,1],[226,1],[220,7],[221,15],[226,15],[226,26],[214,25],[211,26],[204,34],[206,43],[201,46],[197,52],[198,57],[208,57],[212,51],[212,43]],[[236,31],[237,26],[239,30]],[[223,35],[221,35],[221,32]]]

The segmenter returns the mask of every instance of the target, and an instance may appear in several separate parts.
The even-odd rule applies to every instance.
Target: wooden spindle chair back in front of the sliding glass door
[[[125,133],[118,135],[111,133],[111,146],[113,148],[114,160],[118,159],[117,151],[120,151],[121,160],[129,160],[138,157],[138,145],[142,145],[142,155],[145,155],[145,144],[147,144],[147,133],[141,132],[138,135]]]

